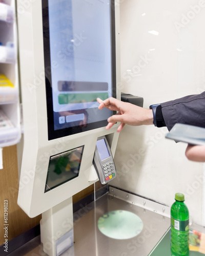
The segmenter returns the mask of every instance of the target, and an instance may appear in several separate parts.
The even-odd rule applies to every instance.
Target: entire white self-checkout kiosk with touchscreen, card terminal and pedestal
[[[54,256],[73,243],[72,196],[116,175],[117,124],[105,129],[114,112],[98,110],[96,98],[120,98],[119,10],[112,0],[30,2],[18,15],[24,127],[18,205],[31,218],[42,214],[44,251]],[[17,8],[23,4],[18,0]]]

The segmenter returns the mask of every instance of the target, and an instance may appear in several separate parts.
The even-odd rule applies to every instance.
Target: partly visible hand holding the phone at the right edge
[[[205,162],[205,145],[188,144],[185,155],[191,161]]]

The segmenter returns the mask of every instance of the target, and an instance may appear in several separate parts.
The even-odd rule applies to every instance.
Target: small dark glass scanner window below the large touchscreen
[[[78,177],[83,149],[80,146],[50,157],[45,192]]]

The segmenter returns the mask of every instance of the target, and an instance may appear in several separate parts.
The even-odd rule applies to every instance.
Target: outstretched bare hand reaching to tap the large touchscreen
[[[129,125],[143,125],[153,124],[153,113],[150,109],[144,109],[134,104],[123,102],[115,98],[108,98],[101,100],[97,98],[99,103],[98,109],[107,108],[112,111],[117,111],[116,115],[108,118],[108,125],[106,129],[109,130],[116,122],[120,122],[117,132],[120,132],[125,124]]]

